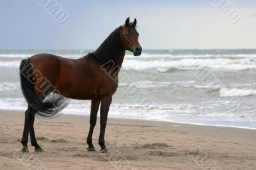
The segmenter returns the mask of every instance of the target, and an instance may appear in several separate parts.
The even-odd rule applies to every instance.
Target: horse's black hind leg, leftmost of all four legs
[[[28,152],[28,134],[31,128],[31,122],[33,120],[33,117],[35,118],[35,113],[36,111],[31,107],[28,107],[27,111],[25,112],[24,130],[23,130],[23,135],[21,139],[21,143],[23,145],[23,148],[22,148],[23,152]]]

